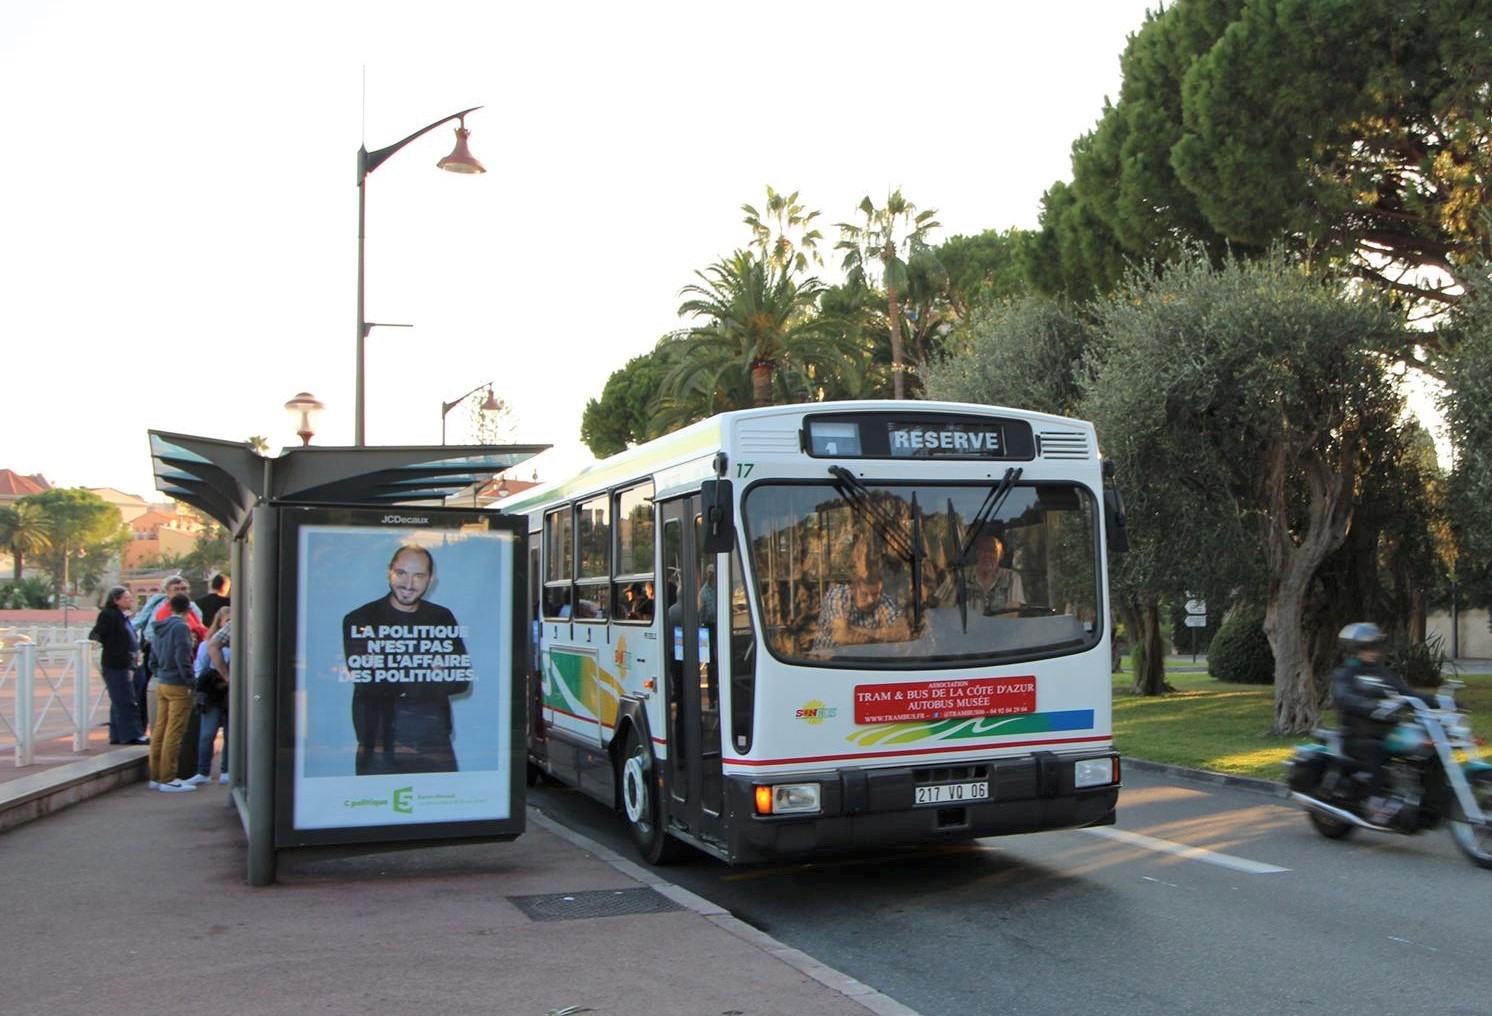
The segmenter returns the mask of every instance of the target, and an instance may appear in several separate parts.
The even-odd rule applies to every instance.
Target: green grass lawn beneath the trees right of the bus
[[[1129,661],[1123,664],[1115,674],[1115,744],[1131,758],[1279,780],[1285,759],[1308,740],[1303,734],[1268,733],[1273,685],[1228,685],[1182,670],[1189,664],[1168,662],[1165,677],[1176,694],[1146,698],[1129,694],[1134,679]],[[1461,674],[1459,680],[1467,686],[1456,694],[1456,703],[1471,716],[1479,736],[1492,737],[1492,674]]]

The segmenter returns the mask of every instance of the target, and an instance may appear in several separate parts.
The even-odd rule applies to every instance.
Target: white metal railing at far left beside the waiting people
[[[87,639],[0,649],[0,750],[13,741],[16,765],[34,764],[37,740],[72,733],[75,752],[88,747],[94,716],[107,709],[95,652]]]

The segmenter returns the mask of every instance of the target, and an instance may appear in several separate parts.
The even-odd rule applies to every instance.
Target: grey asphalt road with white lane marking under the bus
[[[636,856],[579,794],[530,803]],[[664,874],[925,1016],[1492,1013],[1492,871],[1444,830],[1328,841],[1283,798],[1134,770],[1106,830]]]

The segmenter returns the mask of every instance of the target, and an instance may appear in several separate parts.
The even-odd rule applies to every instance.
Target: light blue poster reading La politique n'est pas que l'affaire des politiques
[[[515,534],[400,521],[289,533],[295,831],[513,818]]]

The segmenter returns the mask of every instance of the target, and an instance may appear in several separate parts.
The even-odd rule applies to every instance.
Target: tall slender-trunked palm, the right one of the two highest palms
[[[906,398],[901,376],[906,370],[901,300],[910,285],[907,266],[934,257],[927,236],[941,224],[932,219],[935,210],[918,212],[912,201],[901,197],[901,188],[886,197],[885,207],[876,207],[867,195],[859,203],[859,212],[865,216],[865,224],[839,222],[840,242],[834,246],[844,251],[843,267],[852,285],[868,288],[871,267],[879,267],[880,282],[886,289],[886,328],[891,334],[891,388],[895,398]]]

